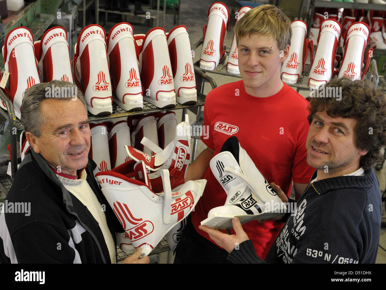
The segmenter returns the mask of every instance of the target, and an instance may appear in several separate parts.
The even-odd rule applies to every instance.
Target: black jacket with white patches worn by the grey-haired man
[[[95,180],[98,168],[90,158],[85,170],[116,244],[115,231],[124,230]],[[33,149],[20,164],[0,214],[0,263],[111,263],[95,218]]]

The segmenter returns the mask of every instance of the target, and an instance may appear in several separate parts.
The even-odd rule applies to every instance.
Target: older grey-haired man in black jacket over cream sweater
[[[34,85],[25,92],[21,121],[32,148],[7,201],[28,203],[30,212],[0,214],[0,263],[115,263],[115,231],[123,228],[88,158],[90,127],[82,93],[69,82]],[[138,260],[140,255],[137,250],[125,262],[149,262]]]

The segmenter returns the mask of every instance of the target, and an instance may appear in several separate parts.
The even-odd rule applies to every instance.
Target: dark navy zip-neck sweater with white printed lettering
[[[316,177],[314,173],[311,180]],[[381,192],[374,170],[310,183],[265,260],[251,240],[228,256],[233,263],[375,263]]]

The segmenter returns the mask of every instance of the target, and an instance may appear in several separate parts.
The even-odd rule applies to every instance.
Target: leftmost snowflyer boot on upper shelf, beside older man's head
[[[40,83],[32,32],[26,27],[12,29],[5,37],[2,50],[4,69],[10,73],[7,90],[15,115],[20,118],[25,90]]]

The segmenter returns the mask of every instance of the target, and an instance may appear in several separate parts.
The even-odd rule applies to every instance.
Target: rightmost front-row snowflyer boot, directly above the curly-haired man
[[[367,51],[367,59],[362,71],[363,54],[370,38],[370,28],[364,22],[354,22],[347,30],[342,65],[338,77],[362,80],[370,65],[372,48]]]

